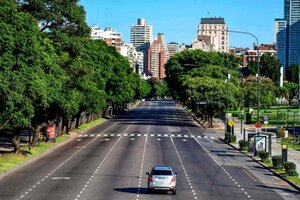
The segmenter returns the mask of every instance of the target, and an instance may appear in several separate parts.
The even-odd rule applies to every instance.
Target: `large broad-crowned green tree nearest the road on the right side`
[[[195,101],[205,100],[206,106],[197,112],[211,126],[213,116],[224,116],[227,89],[231,106],[236,107],[240,102],[239,62],[238,58],[222,53],[183,51],[167,62],[166,82],[172,96],[189,106]],[[231,74],[229,88],[224,84],[227,67]]]

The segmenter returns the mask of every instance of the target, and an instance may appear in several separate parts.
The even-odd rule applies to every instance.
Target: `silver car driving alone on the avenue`
[[[171,167],[156,166],[153,167],[148,175],[148,191],[172,191],[176,195],[176,175]]]

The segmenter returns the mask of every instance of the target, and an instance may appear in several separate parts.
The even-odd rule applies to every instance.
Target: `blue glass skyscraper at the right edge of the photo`
[[[284,18],[275,19],[278,60],[286,70],[300,65],[300,0],[284,0]]]

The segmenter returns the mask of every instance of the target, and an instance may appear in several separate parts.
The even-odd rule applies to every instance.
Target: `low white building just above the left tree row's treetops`
[[[93,40],[103,40],[109,46],[114,46],[116,50],[121,53],[121,46],[123,44],[122,33],[116,32],[112,28],[100,29],[97,25],[91,28],[91,38]]]

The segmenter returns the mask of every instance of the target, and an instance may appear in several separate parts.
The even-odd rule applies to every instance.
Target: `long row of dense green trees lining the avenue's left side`
[[[151,81],[89,36],[79,0],[0,0],[0,136],[16,153],[19,129],[32,128],[34,146],[49,124],[59,136],[83,113],[90,121],[151,93]]]

